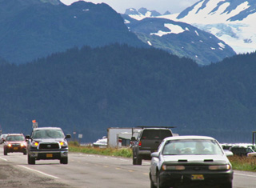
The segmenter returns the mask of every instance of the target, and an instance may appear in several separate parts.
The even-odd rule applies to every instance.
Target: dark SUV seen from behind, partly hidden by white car
[[[142,165],[142,159],[150,159],[151,153],[158,150],[158,146],[162,140],[171,136],[173,136],[173,134],[170,128],[142,127],[142,130],[138,134],[138,138],[131,138],[131,141],[133,142],[133,164]]]

